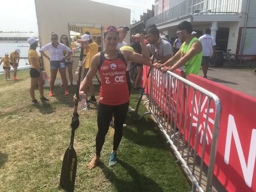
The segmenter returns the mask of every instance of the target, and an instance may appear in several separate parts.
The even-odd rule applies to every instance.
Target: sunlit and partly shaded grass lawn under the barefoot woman
[[[11,73],[12,77],[13,73]],[[57,192],[62,159],[70,144],[70,123],[76,88],[70,95],[56,88],[50,102],[32,105],[29,70],[18,71],[20,80],[6,82],[0,75],[0,192]],[[99,86],[96,87],[98,96]],[[40,99],[36,90],[36,98]],[[136,107],[139,93],[133,92],[130,106]],[[79,104],[80,106],[80,104]],[[110,127],[101,161],[87,168],[95,153],[96,105],[79,110],[80,126],[74,148],[78,156],[75,191],[90,192],[186,192],[190,186],[175,163],[170,147],[150,116],[134,124],[128,114],[127,126],[118,148],[118,164],[108,166],[114,129]],[[139,114],[146,111],[141,105]]]

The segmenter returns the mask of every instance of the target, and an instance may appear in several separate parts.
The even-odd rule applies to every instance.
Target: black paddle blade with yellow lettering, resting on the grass
[[[74,192],[76,180],[77,156],[74,147],[68,148],[64,154],[60,174],[60,187],[67,192]]]

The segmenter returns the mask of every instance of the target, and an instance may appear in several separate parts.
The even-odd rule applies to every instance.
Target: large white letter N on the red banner
[[[252,177],[254,172],[254,165],[255,165],[255,158],[256,158],[256,129],[252,130],[252,137],[251,137],[249,156],[248,156],[248,166],[246,166],[244,152],[242,150],[242,145],[241,145],[237,128],[236,128],[236,122],[234,120],[234,117],[232,115],[229,115],[228,131],[227,131],[226,147],[225,147],[225,155],[224,155],[224,161],[227,165],[229,164],[232,135],[235,140],[236,150],[238,152],[238,157],[242,167],[245,183],[248,187],[251,187]]]

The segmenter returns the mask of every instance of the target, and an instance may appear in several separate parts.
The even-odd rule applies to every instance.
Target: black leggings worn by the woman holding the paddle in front
[[[98,133],[96,136],[96,155],[100,155],[105,136],[108,133],[109,124],[114,113],[115,133],[113,150],[116,151],[123,136],[123,124],[126,118],[129,102],[122,105],[105,105],[99,102],[98,106]]]

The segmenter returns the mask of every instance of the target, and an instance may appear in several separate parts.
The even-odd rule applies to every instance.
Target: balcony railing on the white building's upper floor
[[[150,18],[150,24],[164,24],[178,18],[197,14],[234,14],[238,13],[240,0],[185,0],[168,10]]]

